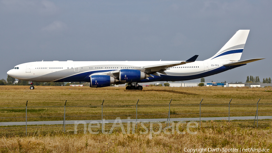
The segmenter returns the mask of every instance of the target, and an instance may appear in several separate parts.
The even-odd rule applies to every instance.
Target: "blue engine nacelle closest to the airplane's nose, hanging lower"
[[[93,88],[110,86],[111,84],[114,84],[119,81],[108,75],[93,75],[90,78],[91,78],[90,87]]]

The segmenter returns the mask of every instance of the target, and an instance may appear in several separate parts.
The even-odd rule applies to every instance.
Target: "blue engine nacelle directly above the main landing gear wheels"
[[[144,72],[140,70],[122,69],[119,70],[120,82],[139,82],[147,77]]]

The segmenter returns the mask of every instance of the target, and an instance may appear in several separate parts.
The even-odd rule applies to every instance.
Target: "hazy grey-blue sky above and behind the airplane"
[[[241,60],[266,58],[210,77],[272,77],[272,1],[0,0],[0,79],[31,61],[197,60],[250,29]],[[200,79],[193,80],[200,81]]]

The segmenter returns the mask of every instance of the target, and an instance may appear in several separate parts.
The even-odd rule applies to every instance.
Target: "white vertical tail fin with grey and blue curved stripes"
[[[211,58],[207,60],[238,61],[241,58],[249,30],[239,30],[232,38]]]

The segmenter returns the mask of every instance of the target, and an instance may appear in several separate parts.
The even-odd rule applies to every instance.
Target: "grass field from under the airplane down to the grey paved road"
[[[26,100],[28,100],[28,121],[62,120],[66,99],[66,120],[101,119],[103,99],[105,99],[103,103],[105,119],[115,119],[116,117],[135,119],[138,99],[138,119],[167,118],[170,99],[172,99],[170,118],[199,117],[199,103],[202,98],[202,117],[228,116],[230,99],[232,99],[230,116],[255,116],[256,103],[260,98],[259,104],[262,105],[258,106],[258,115],[270,116],[270,112],[272,112],[271,88],[145,87],[143,91],[127,91],[124,87],[96,89],[37,86],[35,90],[29,90],[28,86],[0,86],[0,91],[1,122],[24,122]],[[248,103],[252,105],[240,105]],[[270,105],[263,105],[267,103]],[[183,106],[180,106],[181,104]],[[21,118],[11,119],[10,117]]]

